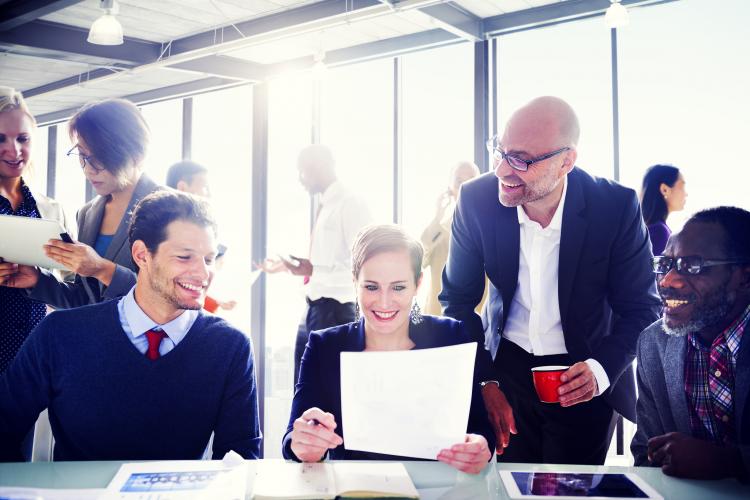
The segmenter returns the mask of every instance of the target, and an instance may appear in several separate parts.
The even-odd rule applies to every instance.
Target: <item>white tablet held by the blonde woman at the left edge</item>
[[[0,257],[6,262],[65,269],[65,266],[47,257],[42,248],[53,238],[70,240],[56,220],[0,215]]]

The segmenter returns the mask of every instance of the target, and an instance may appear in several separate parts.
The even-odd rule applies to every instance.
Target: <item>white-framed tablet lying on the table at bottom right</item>
[[[633,473],[581,473],[500,471],[505,491],[514,499],[664,500],[643,479]]]

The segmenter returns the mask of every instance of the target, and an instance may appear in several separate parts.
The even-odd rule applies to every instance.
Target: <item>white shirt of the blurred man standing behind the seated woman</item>
[[[352,244],[357,233],[372,223],[365,202],[336,181],[320,197],[320,213],[310,242],[313,273],[306,285],[310,300],[328,297],[354,301]]]

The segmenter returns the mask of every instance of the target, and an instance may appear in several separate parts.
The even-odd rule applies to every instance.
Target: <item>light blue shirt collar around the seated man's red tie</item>
[[[135,287],[130,289],[126,296],[117,303],[117,311],[120,315],[120,325],[125,330],[130,342],[142,354],[148,350],[148,339],[146,332],[149,330],[164,330],[167,334],[159,345],[159,355],[164,356],[175,348],[198,319],[200,311],[185,310],[169,323],[160,325],[149,318],[143,309],[135,301]]]

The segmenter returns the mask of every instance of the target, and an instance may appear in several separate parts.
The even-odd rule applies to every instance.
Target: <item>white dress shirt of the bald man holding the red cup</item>
[[[518,286],[508,312],[503,337],[536,356],[567,354],[565,334],[560,318],[558,281],[560,275],[560,235],[567,178],[552,221],[545,228],[526,215],[522,206],[516,207],[520,225],[518,252]],[[609,377],[601,363],[586,360],[594,372],[598,394],[609,387]]]

